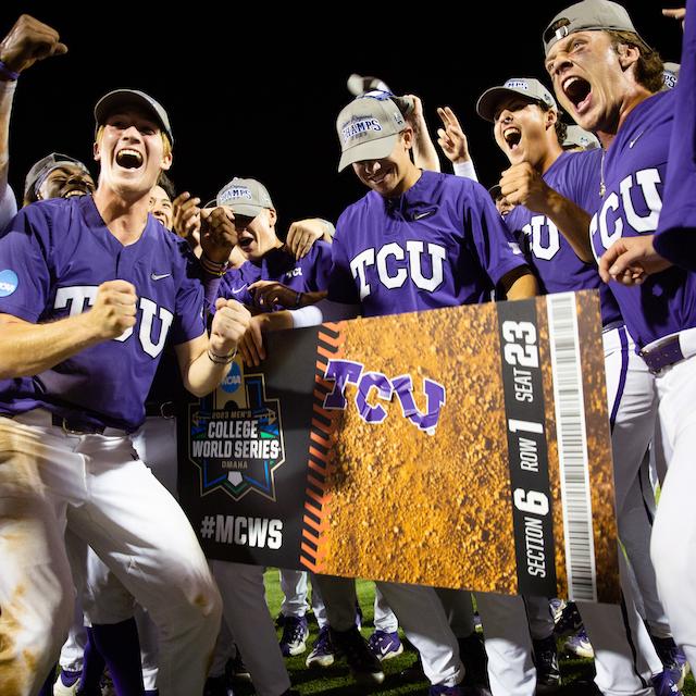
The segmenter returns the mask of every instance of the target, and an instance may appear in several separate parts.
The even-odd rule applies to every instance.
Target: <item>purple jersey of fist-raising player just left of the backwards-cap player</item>
[[[561,196],[592,213],[599,190],[600,157],[599,150],[563,152],[545,172],[544,181]],[[520,241],[543,295],[598,289],[602,324],[621,321],[619,307],[601,282],[597,265],[581,261],[551,220],[524,206],[515,206],[505,222]]]

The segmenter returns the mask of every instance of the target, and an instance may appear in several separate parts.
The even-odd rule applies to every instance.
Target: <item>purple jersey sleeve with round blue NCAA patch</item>
[[[0,235],[0,313],[32,323],[44,313],[51,278],[48,232],[48,222],[29,207]]]

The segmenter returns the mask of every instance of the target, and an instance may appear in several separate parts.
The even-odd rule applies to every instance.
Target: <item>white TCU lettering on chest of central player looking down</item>
[[[427,253],[431,276],[425,277],[423,271],[423,256]],[[408,256],[408,261],[406,258]],[[361,251],[350,262],[352,277],[360,285],[360,299],[370,295],[372,288],[368,282],[368,269],[376,265],[380,283],[388,289],[401,287],[408,277],[421,290],[434,293],[443,284],[443,264],[447,251],[445,247],[427,243],[427,250],[423,241],[406,243],[406,250],[398,243],[385,244],[378,251],[374,248]],[[408,266],[408,270],[407,270]]]

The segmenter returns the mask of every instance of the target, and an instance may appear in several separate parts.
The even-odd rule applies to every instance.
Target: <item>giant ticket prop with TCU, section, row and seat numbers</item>
[[[618,600],[596,293],[268,338],[179,419],[209,557]]]

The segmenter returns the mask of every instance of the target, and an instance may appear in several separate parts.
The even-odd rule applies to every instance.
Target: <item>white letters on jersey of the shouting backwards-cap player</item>
[[[622,179],[619,192],[609,194],[599,212],[593,215],[589,223],[591,235],[594,236],[599,231],[601,246],[608,249],[623,235],[624,220],[638,234],[655,232],[662,210],[662,199],[657,190],[657,185],[661,182],[656,169],[641,170]],[[638,215],[636,212],[634,201],[638,202],[641,197],[649,211],[647,215]]]

